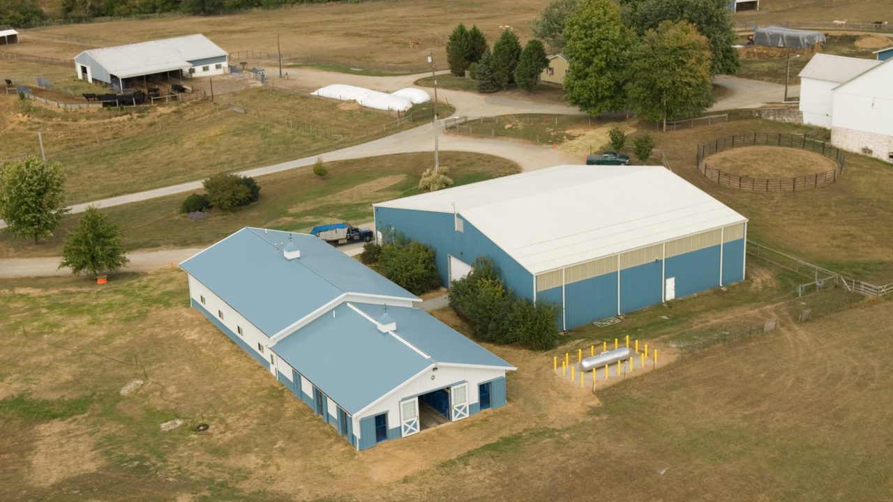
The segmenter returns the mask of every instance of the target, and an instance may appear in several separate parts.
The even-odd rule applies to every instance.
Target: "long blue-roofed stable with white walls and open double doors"
[[[193,307],[358,450],[505,405],[511,364],[319,238],[246,228],[180,266]]]

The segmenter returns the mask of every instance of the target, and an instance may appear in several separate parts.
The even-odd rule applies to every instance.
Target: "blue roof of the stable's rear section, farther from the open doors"
[[[301,251],[295,260],[282,255],[289,236]],[[347,292],[418,300],[306,234],[245,228],[180,266],[268,336]]]

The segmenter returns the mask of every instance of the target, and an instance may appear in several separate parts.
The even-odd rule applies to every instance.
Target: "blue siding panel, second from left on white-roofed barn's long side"
[[[617,314],[617,272],[605,273],[564,286],[567,328]]]

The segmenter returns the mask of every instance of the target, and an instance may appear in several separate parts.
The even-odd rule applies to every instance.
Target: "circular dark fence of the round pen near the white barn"
[[[742,146],[785,146],[789,148],[801,148],[825,156],[837,163],[837,166],[825,172],[817,172],[798,176],[796,178],[751,178],[739,176],[729,172],[722,172],[706,163],[706,158],[723,150],[739,148]],[[843,152],[836,146],[830,146],[824,141],[809,138],[798,134],[772,134],[752,133],[737,134],[728,138],[716,139],[712,143],[697,146],[695,160],[698,171],[704,174],[708,180],[714,181],[722,187],[737,188],[740,190],[758,191],[789,191],[796,192],[806,188],[816,188],[837,181],[844,168]]]

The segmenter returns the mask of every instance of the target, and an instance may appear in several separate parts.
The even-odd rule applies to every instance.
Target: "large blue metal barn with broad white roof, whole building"
[[[559,165],[374,210],[380,239],[435,249],[445,285],[488,256],[562,306],[562,329],[744,279],[747,219],[661,166]]]

